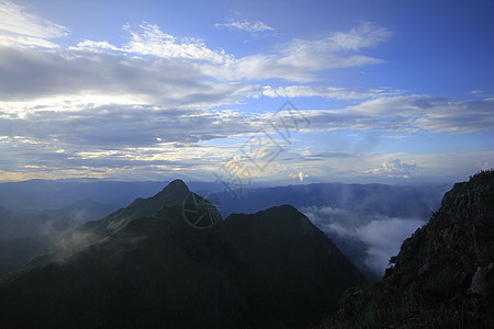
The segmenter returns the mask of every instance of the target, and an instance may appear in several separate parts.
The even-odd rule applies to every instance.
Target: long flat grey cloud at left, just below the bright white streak
[[[197,143],[255,132],[256,120],[236,112],[160,110],[150,106],[94,106],[60,115],[47,109],[23,117],[0,118],[3,143],[54,141],[86,148],[143,147],[160,143]],[[18,136],[18,137],[15,137]],[[159,139],[158,139],[159,138]],[[65,148],[65,147],[64,147]]]

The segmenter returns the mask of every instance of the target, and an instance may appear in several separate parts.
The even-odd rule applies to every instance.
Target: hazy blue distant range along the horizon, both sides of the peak
[[[165,184],[166,182],[98,180],[31,180],[0,183],[0,206],[14,212],[33,212],[63,208],[83,200],[91,200],[117,208],[137,197],[155,195]],[[330,206],[363,214],[384,214],[390,217],[428,217],[429,209],[436,211],[442,194],[450,189],[449,184],[315,183],[246,189],[242,193],[237,191],[238,193],[232,194],[216,183],[190,182],[189,185],[199,194],[215,193],[222,204],[224,216],[292,204],[296,208]]]

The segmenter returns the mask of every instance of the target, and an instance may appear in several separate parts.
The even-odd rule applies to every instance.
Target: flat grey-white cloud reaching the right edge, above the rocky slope
[[[272,91],[267,89],[267,92]],[[470,134],[494,126],[494,99],[463,101],[434,95],[381,97],[378,91],[370,100],[357,105],[300,112],[311,121],[310,131],[313,132],[380,129]]]

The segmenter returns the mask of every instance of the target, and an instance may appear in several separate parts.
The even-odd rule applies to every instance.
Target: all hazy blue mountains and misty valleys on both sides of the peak
[[[209,197],[214,197],[224,217],[233,213],[256,213],[283,204],[295,206],[325,231],[370,281],[382,276],[382,263],[396,252],[404,237],[425,224],[430,213],[439,208],[440,200],[449,189],[445,184],[321,183],[247,189],[233,195],[215,183],[191,182],[190,185],[201,195],[213,192]],[[0,206],[4,208],[0,208],[0,240],[7,242],[8,239],[23,237],[31,239],[26,246],[59,243],[54,240],[74,226],[103,218],[133,200],[139,203],[139,196],[151,197],[162,186],[160,182],[98,180],[1,183]],[[380,246],[378,238],[370,240],[366,235],[367,231],[375,230],[383,231],[383,238],[389,240],[385,248]],[[385,236],[386,230],[391,236]],[[48,236],[49,241],[46,241]],[[0,246],[0,275],[8,269],[19,269],[20,264],[40,250],[37,247],[29,248],[32,251],[30,253],[26,249],[19,249],[22,243],[9,243],[12,246],[3,247],[3,252]],[[46,248],[43,250],[46,251]],[[2,258],[5,249],[16,252]]]

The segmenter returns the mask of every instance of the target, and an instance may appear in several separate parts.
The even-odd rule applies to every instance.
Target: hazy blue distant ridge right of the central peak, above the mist
[[[291,204],[297,209],[332,207],[351,211],[360,220],[372,215],[428,218],[437,211],[450,185],[385,185],[314,183],[245,190],[234,198],[220,193],[225,214],[255,213],[276,205]]]

